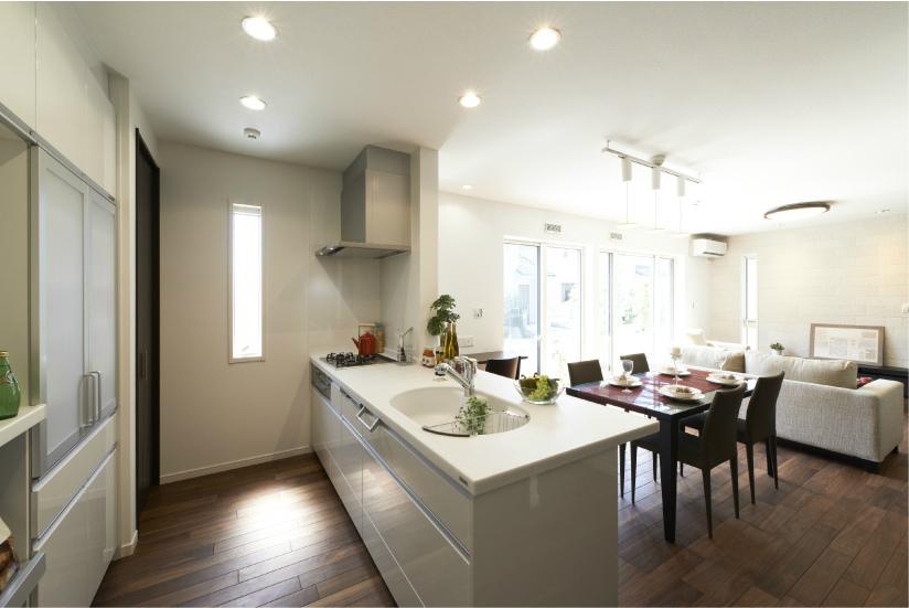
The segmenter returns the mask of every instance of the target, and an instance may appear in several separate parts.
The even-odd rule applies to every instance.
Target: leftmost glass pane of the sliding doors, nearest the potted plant
[[[504,350],[524,355],[521,372],[539,370],[539,245],[505,243]]]

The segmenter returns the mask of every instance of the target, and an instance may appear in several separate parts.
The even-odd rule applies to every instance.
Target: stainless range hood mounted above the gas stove
[[[344,171],[341,239],[318,256],[381,259],[410,250],[410,156],[366,146]]]

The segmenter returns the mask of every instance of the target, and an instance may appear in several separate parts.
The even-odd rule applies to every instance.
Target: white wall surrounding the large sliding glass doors
[[[544,223],[562,224],[559,235],[544,233]],[[693,323],[706,322],[703,285],[688,290],[688,277],[704,276],[705,260],[687,255],[688,239],[628,231],[622,241],[610,239],[616,224],[556,211],[439,193],[439,291],[458,302],[458,335],[473,337],[464,352],[500,350],[503,344],[503,242],[506,237],[584,247],[584,356],[597,358],[596,259],[600,249],[672,255],[676,259],[676,334]],[[472,310],[483,309],[474,319]]]

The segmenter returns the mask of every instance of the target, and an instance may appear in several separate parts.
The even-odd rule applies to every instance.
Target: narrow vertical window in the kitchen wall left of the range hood
[[[231,362],[261,361],[263,209],[231,203]]]

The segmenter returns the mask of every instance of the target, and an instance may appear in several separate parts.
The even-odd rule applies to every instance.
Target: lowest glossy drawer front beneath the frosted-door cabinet
[[[116,448],[82,490],[34,542],[46,572],[38,586],[39,606],[90,606],[116,550]]]

